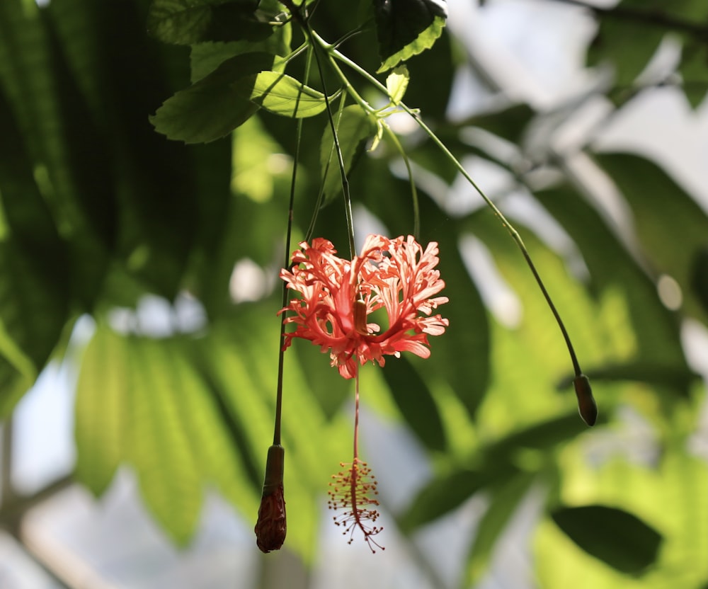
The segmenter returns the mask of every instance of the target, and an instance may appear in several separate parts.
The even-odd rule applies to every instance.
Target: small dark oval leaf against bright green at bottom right
[[[644,572],[663,541],[636,515],[606,505],[559,508],[551,517],[579,547],[622,573]]]

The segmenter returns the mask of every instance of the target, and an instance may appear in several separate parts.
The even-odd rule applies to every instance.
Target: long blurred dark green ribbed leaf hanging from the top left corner
[[[102,206],[89,197],[103,152],[93,141],[93,127],[84,122],[86,103],[57,47],[52,21],[42,18],[37,6],[16,0],[0,6],[0,84],[42,197],[74,257],[72,294],[89,307],[112,237],[111,193],[103,187]]]

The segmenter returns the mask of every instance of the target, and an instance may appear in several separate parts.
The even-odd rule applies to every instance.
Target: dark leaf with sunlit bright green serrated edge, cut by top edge
[[[433,47],[447,18],[444,0],[374,0],[376,34],[386,72]]]

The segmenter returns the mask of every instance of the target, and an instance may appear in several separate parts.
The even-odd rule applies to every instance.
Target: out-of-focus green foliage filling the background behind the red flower
[[[355,26],[357,8],[323,0],[312,26],[336,40]],[[0,411],[11,415],[47,363],[66,353],[76,321],[91,316],[76,391],[76,479],[100,496],[130,464],[150,512],[185,546],[207,486],[255,520],[273,427],[277,273],[296,122],[259,110],[224,139],[198,145],[155,132],[148,115],[213,69],[209,59],[218,64],[243,48],[165,45],[146,33],[148,10],[148,0],[0,4]],[[515,244],[439,149],[400,121],[392,126],[421,193],[421,241],[440,243],[450,328],[428,360],[366,367],[363,403],[408,428],[431,464],[429,480],[389,509],[401,542],[470,497],[486,498],[459,585],[483,578],[506,525],[534,496],[542,505],[530,547],[539,586],[704,588],[708,466],[690,440],[705,384],[687,362],[681,330],[708,319],[706,203],[661,161],[603,151],[596,139],[652,88],[675,87],[692,108],[703,103],[708,6],[622,0],[583,10],[596,23],[591,81],[569,99],[515,101],[446,30],[409,61],[405,101],[473,175],[493,178],[489,194],[518,224],[593,380],[598,425],[588,430],[577,415],[563,341]],[[302,40],[290,27],[239,42],[268,43],[264,50],[282,55],[291,37],[292,47]],[[648,68],[666,42],[678,48],[673,62]],[[370,29],[341,50],[375,72],[375,48]],[[302,67],[292,62],[287,72],[297,78]],[[464,67],[489,100],[453,118]],[[350,81],[382,101],[360,77]],[[559,130],[581,127],[575,117],[590,99],[603,101],[603,119],[559,142]],[[229,116],[228,101],[211,108]],[[296,239],[319,191],[325,126],[326,115],[304,122]],[[386,141],[358,159],[350,183],[360,233],[413,230],[401,169]],[[456,207],[450,195],[466,204]],[[321,210],[315,234],[346,251],[339,200]],[[148,295],[173,305],[167,333],[132,312]],[[181,297],[198,302],[202,320],[181,320]],[[329,476],[350,454],[353,391],[328,364],[307,342],[286,354],[285,549],[307,565],[318,559]],[[629,435],[637,424],[641,435]],[[375,465],[377,449],[365,453]],[[388,475],[377,476],[385,483]]]

